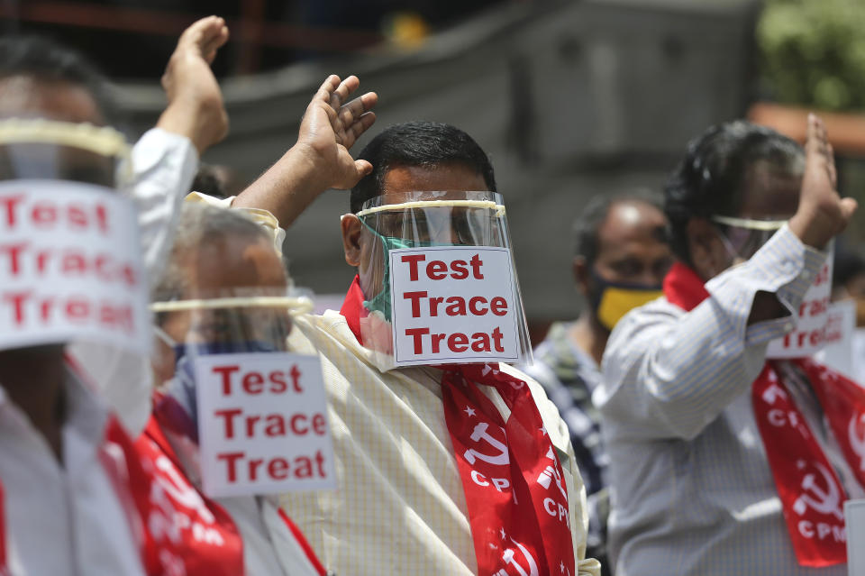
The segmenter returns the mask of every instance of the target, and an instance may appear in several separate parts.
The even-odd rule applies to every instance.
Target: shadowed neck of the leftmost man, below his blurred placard
[[[62,460],[62,430],[66,419],[65,379],[62,346],[0,352],[0,384],[9,399],[45,437],[58,460]]]

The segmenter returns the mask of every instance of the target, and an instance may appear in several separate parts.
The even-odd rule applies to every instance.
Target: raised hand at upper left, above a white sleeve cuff
[[[223,93],[210,69],[226,41],[228,28],[222,18],[202,18],[181,34],[162,76],[168,107],[157,126],[187,136],[199,154],[228,133]]]

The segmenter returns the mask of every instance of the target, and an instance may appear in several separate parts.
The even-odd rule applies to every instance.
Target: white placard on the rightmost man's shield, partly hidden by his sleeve
[[[829,301],[832,297],[832,252],[797,311],[796,329],[783,338],[769,343],[766,358],[805,358],[813,356],[824,346]]]

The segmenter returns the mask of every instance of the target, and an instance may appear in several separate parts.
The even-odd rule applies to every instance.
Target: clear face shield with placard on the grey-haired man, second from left
[[[320,363],[287,345],[308,292],[218,289],[150,308],[153,416],[190,480],[211,497],[330,487]]]

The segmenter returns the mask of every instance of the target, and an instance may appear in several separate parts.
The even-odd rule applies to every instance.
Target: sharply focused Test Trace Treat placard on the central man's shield
[[[519,359],[508,249],[432,246],[389,257],[396,366]]]

